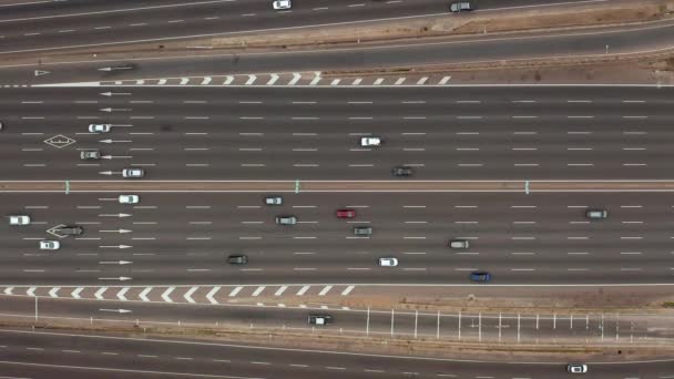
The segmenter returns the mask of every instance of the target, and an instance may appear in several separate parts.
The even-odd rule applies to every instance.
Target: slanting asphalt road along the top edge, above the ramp
[[[575,0],[579,1],[579,0]],[[572,1],[480,0],[481,10]],[[579,1],[584,2],[584,1]],[[139,41],[252,33],[330,23],[448,14],[447,0],[294,1],[275,11],[272,0],[17,1],[0,8],[0,53],[100,47]],[[24,4],[21,4],[24,3]]]

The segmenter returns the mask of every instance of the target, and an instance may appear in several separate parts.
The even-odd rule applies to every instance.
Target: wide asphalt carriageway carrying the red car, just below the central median
[[[4,194],[4,285],[457,284],[488,270],[493,285],[672,283],[672,195],[642,194]],[[336,217],[353,208],[356,217]],[[589,208],[609,218],[589,221]],[[275,224],[295,215],[298,224]],[[80,225],[80,236],[54,235]],[[371,237],[354,227],[374,228]],[[470,242],[450,249],[452,238]],[[42,239],[61,249],[39,250]],[[228,265],[231,254],[248,264]],[[396,257],[397,267],[378,267]],[[114,264],[120,262],[129,264]],[[111,283],[112,281],[112,283]],[[119,281],[119,280],[116,280]]]

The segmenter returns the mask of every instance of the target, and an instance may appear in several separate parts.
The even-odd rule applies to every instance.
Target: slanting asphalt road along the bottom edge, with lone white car
[[[2,372],[21,378],[571,378],[566,362],[496,362],[251,345],[0,330]],[[592,378],[670,378],[672,361],[588,362]]]

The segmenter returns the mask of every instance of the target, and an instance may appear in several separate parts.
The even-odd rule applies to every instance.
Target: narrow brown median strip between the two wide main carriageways
[[[674,192],[674,181],[6,181],[2,192]]]

